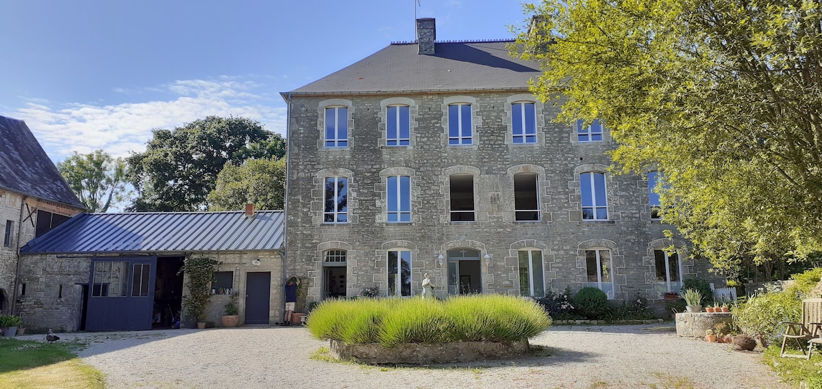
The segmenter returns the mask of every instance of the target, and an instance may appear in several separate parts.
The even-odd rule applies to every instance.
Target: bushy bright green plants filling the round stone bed
[[[551,326],[533,300],[509,295],[468,295],[449,300],[326,300],[312,311],[308,329],[318,339],[348,344],[450,341],[521,341]]]

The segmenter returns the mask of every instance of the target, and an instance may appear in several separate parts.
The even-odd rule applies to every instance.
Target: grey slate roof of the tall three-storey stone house
[[[417,43],[390,46],[311,84],[282,93],[367,94],[450,90],[527,89],[542,74],[537,62],[510,57],[513,41],[435,43],[432,55]]]

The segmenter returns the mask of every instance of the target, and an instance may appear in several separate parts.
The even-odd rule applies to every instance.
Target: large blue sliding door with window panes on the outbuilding
[[[93,259],[85,330],[150,330],[156,257]]]

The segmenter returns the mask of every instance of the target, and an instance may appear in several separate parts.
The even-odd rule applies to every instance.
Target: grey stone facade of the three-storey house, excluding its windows
[[[409,146],[386,146],[385,107],[400,100],[409,106]],[[521,101],[535,103],[535,144],[511,141],[511,103]],[[683,279],[712,278],[708,263],[687,255],[685,242],[665,238],[663,231],[671,226],[652,220],[647,181],[608,172],[607,151],[616,144],[607,129],[603,141],[579,142],[575,126],[554,122],[557,108],[527,89],[295,95],[290,102],[287,268],[309,277],[309,301],[328,295],[326,265],[333,264],[324,263],[328,250],[345,251],[349,297],[367,287],[389,294],[386,253],[391,249],[411,251],[413,295],[422,290],[425,273],[431,274],[436,295],[449,294],[447,258],[455,249],[477,250],[483,258],[475,261],[473,275],[480,277],[483,293],[520,294],[518,251],[526,248],[542,252],[542,276],[554,291],[584,286],[586,249],[610,250],[616,299],[641,295],[661,304],[653,249],[672,244],[683,258]],[[449,145],[448,106],[456,102],[472,108],[470,145]],[[323,143],[323,112],[329,106],[348,108],[346,147]],[[539,221],[515,220],[514,175],[520,172],[538,177]],[[582,220],[584,172],[606,173],[607,221]],[[452,174],[473,176],[475,222],[450,221]],[[395,175],[410,177],[410,222],[386,222],[386,176]],[[348,222],[324,222],[324,184],[330,176],[348,179]]]

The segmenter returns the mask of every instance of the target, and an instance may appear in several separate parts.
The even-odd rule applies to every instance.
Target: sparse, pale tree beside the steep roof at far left
[[[103,150],[74,152],[58,162],[57,169],[89,212],[106,212],[130,193],[126,188],[126,162]]]

